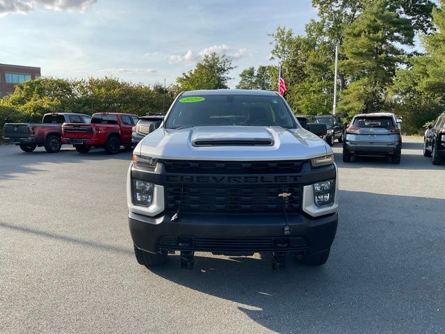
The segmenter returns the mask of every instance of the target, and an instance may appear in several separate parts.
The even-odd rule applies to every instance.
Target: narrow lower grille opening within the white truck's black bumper
[[[179,246],[179,244],[186,246]],[[163,237],[158,246],[164,249],[193,249],[202,251],[266,251],[266,250],[305,250],[307,243],[302,237],[250,237],[250,238],[198,238]]]

